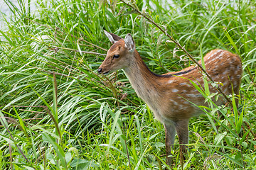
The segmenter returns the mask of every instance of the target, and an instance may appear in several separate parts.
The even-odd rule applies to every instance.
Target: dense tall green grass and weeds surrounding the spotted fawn
[[[191,60],[180,60],[184,53],[174,43],[120,1],[38,1],[36,11],[18,2],[7,0],[11,16],[1,18],[0,169],[164,168],[163,125],[124,72],[97,74],[111,45],[103,29],[122,38],[132,33],[144,62],[158,74]],[[240,114],[213,107],[191,119],[183,168],[255,169],[256,2],[136,4],[197,60],[215,48],[242,58]],[[174,169],[181,169],[178,145]]]

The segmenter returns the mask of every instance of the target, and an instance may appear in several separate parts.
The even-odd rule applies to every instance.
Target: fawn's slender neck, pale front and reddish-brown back
[[[159,98],[159,77],[149,70],[146,64],[142,61],[137,50],[134,51],[134,60],[129,67],[124,69],[132,87],[137,95],[142,98],[148,105],[152,100],[158,101]]]

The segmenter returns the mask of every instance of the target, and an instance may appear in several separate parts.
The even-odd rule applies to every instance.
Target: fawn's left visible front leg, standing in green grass
[[[175,126],[170,124],[164,124],[164,130],[166,135],[166,164],[171,165],[171,147],[174,146],[175,138]]]

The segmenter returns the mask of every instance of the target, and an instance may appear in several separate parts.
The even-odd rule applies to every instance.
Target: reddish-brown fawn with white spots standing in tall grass
[[[177,132],[181,151],[181,160],[188,144],[189,118],[202,113],[196,106],[208,106],[205,98],[191,84],[193,81],[203,87],[203,77],[197,66],[182,69],[179,72],[155,74],[146,67],[137,50],[132,35],[124,39],[105,31],[107,38],[113,43],[107,57],[97,71],[100,74],[123,69],[137,95],[142,98],[153,111],[156,119],[164,124],[166,135],[166,163],[171,165],[171,146]],[[214,81],[221,82],[225,94],[238,94],[242,75],[240,57],[225,50],[212,50],[205,57],[206,71]],[[201,64],[201,61],[199,61]],[[191,81],[189,81],[191,80]],[[217,90],[209,86],[210,93]],[[193,104],[196,104],[193,105]],[[223,98],[215,103],[220,106]],[[175,132],[176,131],[176,132]]]

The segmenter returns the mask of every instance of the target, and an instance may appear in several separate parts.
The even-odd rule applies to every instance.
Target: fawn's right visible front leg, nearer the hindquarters
[[[187,153],[188,147],[188,121],[189,120],[178,120],[176,121],[175,128],[178,135],[178,141],[180,144],[180,155],[181,155],[181,164],[185,159],[184,154]]]

